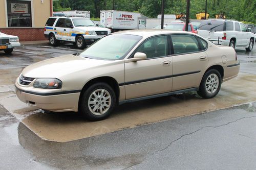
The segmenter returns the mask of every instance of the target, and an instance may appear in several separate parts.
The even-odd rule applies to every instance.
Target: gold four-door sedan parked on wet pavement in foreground
[[[80,54],[27,66],[15,86],[29,105],[101,120],[127,102],[191,90],[213,98],[239,68],[233,48],[196,34],[133,30],[105,36]]]

